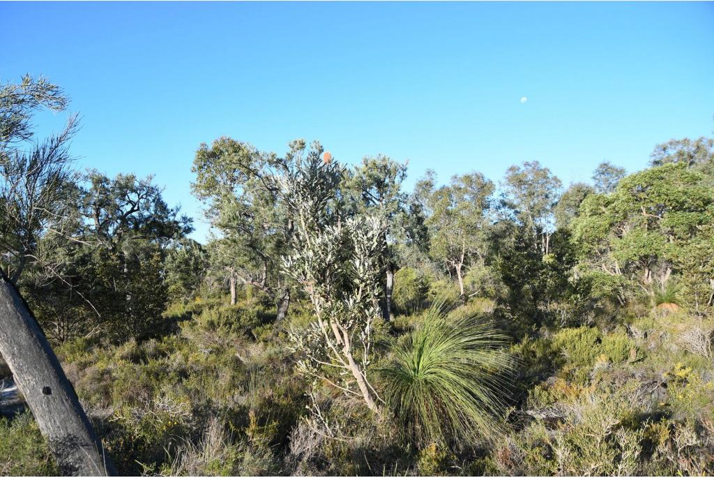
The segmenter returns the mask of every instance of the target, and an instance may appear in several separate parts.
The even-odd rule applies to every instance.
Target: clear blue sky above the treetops
[[[408,160],[411,188],[530,160],[567,185],[714,130],[713,3],[3,2],[0,41],[1,81],[71,96],[79,166],[154,174],[198,240],[191,161],[221,135]]]

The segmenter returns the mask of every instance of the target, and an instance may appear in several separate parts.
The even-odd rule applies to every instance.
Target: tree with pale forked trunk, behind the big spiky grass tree
[[[429,173],[418,182],[416,193],[425,205],[431,242],[430,255],[456,274],[464,294],[464,269],[486,254],[486,229],[495,189],[481,173],[453,176],[445,186],[436,187],[436,176]]]

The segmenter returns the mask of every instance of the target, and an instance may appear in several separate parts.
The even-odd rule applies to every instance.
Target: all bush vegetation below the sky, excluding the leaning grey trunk
[[[0,95],[29,85],[25,123],[64,107]],[[150,178],[50,157],[64,189],[17,196],[0,141],[0,261],[121,474],[714,474],[714,142],[690,144],[565,191],[533,161],[407,194],[385,156],[222,137],[198,244]],[[57,472],[31,414],[0,419],[0,474]]]

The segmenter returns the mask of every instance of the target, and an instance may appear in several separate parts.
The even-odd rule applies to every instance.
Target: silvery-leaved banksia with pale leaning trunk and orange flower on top
[[[283,270],[303,287],[314,313],[309,327],[291,332],[291,339],[301,354],[301,373],[379,412],[380,399],[367,371],[373,323],[381,314],[379,258],[386,226],[373,217],[341,219],[333,204],[343,171],[336,161],[322,161],[319,153],[313,146],[305,160],[296,159],[295,169],[278,179],[296,218],[293,254],[283,258]]]

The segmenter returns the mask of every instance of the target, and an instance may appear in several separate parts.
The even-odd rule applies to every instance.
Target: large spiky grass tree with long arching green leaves
[[[396,342],[380,374],[410,439],[451,442],[496,432],[500,389],[511,367],[497,349],[503,341],[485,322],[454,317],[436,304],[420,327]]]

